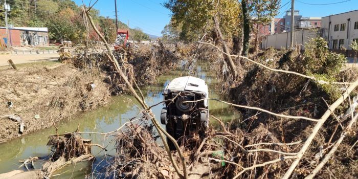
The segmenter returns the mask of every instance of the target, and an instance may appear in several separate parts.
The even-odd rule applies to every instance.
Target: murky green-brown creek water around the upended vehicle
[[[209,84],[209,97],[219,99],[220,95],[215,89],[217,88],[217,79],[211,70],[212,69],[207,66],[198,66],[194,69],[195,75],[192,76],[205,79]],[[159,77],[155,85],[143,88],[147,103],[153,105],[161,102],[163,100],[162,92],[164,86],[173,78],[183,75],[183,71],[173,71],[169,75]],[[113,103],[106,107],[75,115],[69,121],[64,121],[58,124],[58,132],[64,133],[66,131],[74,131],[77,128],[77,124],[80,124],[80,131],[82,132],[109,132],[116,130],[129,119],[139,114],[139,104],[135,101],[135,99],[128,95],[114,97]],[[159,116],[162,107],[163,105],[158,105],[152,108],[157,119],[160,119]],[[216,117],[221,117],[223,120],[233,119],[238,116],[228,105],[216,101],[209,101],[209,110],[210,114],[215,115]],[[39,122],[40,120],[41,119],[39,119]],[[50,153],[50,149],[46,146],[48,136],[53,134],[55,134],[55,130],[52,127],[0,144],[0,173],[18,169],[18,166],[20,166],[18,161],[27,159],[29,156],[40,156],[46,160],[46,157]],[[83,162],[76,166],[65,167],[55,173],[58,175],[55,175],[53,178],[84,178],[86,174],[91,172],[104,172],[103,168],[100,166],[104,165],[105,161],[115,154],[115,142],[113,136],[83,135],[83,138],[92,139],[93,143],[107,146],[108,151],[104,152],[100,148],[94,146],[92,147],[92,153],[97,157],[93,162]],[[36,169],[40,168],[40,166],[41,161],[35,163]],[[20,169],[26,170],[25,167]],[[100,176],[97,175],[97,177]]]

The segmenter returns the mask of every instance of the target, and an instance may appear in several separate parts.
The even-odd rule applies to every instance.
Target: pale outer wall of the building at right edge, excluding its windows
[[[350,21],[348,21],[348,18],[350,18]],[[339,45],[339,40],[344,39],[343,47],[351,50],[352,40],[358,38],[358,29],[354,29],[356,21],[358,21],[358,10],[322,17],[321,34],[328,41],[329,49],[334,50],[333,40],[338,40]],[[341,31],[341,24],[346,24],[344,31]],[[334,31],[334,25],[340,25],[339,31]]]

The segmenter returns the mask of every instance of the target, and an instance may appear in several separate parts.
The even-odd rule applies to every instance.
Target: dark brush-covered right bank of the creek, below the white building
[[[269,49],[259,54],[259,57],[255,59],[272,69],[298,72],[314,76],[316,80],[302,78],[295,74],[273,72],[262,68],[262,66],[249,64],[245,65],[247,73],[243,80],[238,85],[227,89],[228,99],[235,104],[259,107],[277,114],[320,119],[326,113],[329,105],[347,90],[349,84],[344,85],[343,82],[352,82],[357,78],[352,69],[345,68],[345,57],[329,52],[326,44],[326,41],[322,38],[312,39],[307,44],[304,53],[299,51],[276,52]],[[322,81],[328,82],[328,84]],[[341,84],[333,82],[341,82]],[[350,94],[350,99],[347,98],[335,109],[335,116],[331,115],[319,129],[318,135],[313,139],[303,159],[294,170],[294,177],[307,176],[323,160],[332,146],[337,143],[341,134],[346,131],[350,120],[344,116],[348,113],[349,119],[351,119],[350,110],[348,111],[347,108],[349,109],[350,103],[355,103],[356,94],[357,91],[354,90]],[[353,107],[355,106],[353,105]],[[244,119],[240,122],[241,129],[251,133],[263,126],[270,131],[270,135],[267,137],[276,136],[278,140],[273,140],[271,143],[285,143],[284,148],[280,150],[283,152],[298,152],[303,143],[293,146],[286,144],[304,141],[311,135],[312,129],[316,125],[316,122],[304,119],[288,119],[253,109],[238,109],[242,112]],[[357,131],[357,125],[354,124],[350,130]],[[358,140],[358,137],[354,132],[348,132],[345,135],[346,138],[338,147],[333,158],[316,176],[329,178],[333,175],[339,178],[343,177],[342,173],[344,173],[345,176],[357,177],[358,148],[354,143]],[[273,152],[270,152],[270,155],[262,155],[263,153],[253,153],[256,159],[252,160],[259,163],[258,160],[274,160],[278,156],[277,154],[274,155]],[[288,162],[288,164],[290,163]],[[286,165],[284,168],[288,166]],[[273,164],[269,168],[256,170],[255,177],[260,176],[259,173],[265,173],[267,176],[274,174],[272,176],[280,178],[285,172],[286,170],[282,170],[282,168],[278,170],[276,164]]]

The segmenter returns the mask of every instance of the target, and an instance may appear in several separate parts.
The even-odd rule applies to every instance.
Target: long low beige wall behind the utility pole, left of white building
[[[287,49],[290,45],[290,32],[267,35],[262,38],[261,48]],[[304,44],[311,38],[318,37],[317,29],[295,31],[294,43],[304,50]]]

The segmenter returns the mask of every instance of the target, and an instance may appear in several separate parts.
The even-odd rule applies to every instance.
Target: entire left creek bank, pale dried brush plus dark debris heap
[[[160,44],[115,54],[130,83],[144,86],[176,68],[183,57],[178,49]],[[38,63],[0,71],[0,143],[48,128],[78,111],[105,104],[110,95],[127,92],[105,52],[89,53],[78,47],[74,55],[60,51],[59,61],[65,64]]]

